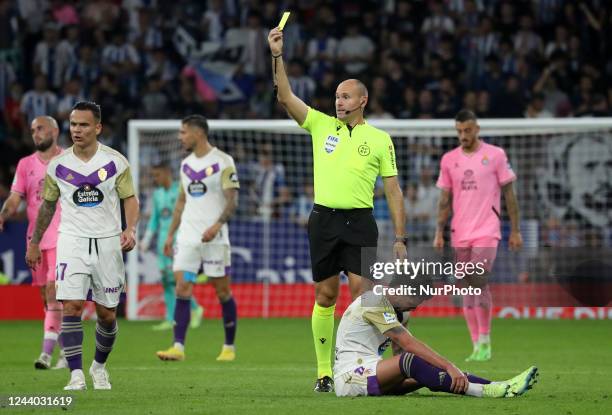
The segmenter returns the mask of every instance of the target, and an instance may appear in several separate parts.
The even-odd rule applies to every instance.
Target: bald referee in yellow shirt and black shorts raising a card
[[[315,281],[312,334],[318,375],[314,390],[331,392],[330,358],[339,274],[344,271],[348,275],[351,295],[356,298],[361,277],[369,277],[372,257],[366,252],[375,251],[377,245],[372,207],[378,176],[383,178],[395,227],[394,253],[406,257],[404,202],[395,150],[389,134],[364,120],[368,91],[363,83],[348,79],[338,85],[336,117],[330,117],[308,107],[291,91],[282,57],[283,34],[278,28],[270,31],[268,43],[278,101],[312,136],[315,204],[308,221],[308,239]],[[361,263],[362,258],[366,263]]]

